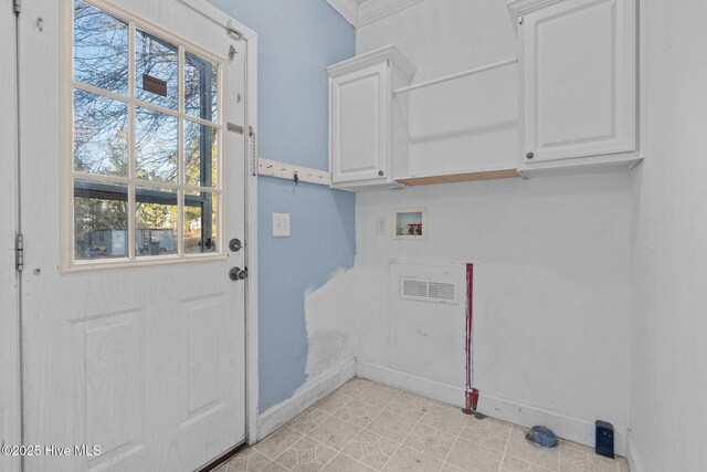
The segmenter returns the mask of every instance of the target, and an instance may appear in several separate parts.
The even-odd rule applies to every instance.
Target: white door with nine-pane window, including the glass
[[[245,438],[245,42],[176,0],[22,4],[24,442],[70,448],[25,470],[196,470]]]

